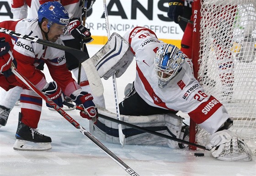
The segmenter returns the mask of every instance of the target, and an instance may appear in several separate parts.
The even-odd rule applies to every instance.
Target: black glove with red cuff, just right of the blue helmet
[[[93,39],[91,38],[90,29],[87,29],[81,24],[79,18],[72,18],[69,20],[69,34],[71,34],[76,39],[82,38],[85,43],[90,43]]]

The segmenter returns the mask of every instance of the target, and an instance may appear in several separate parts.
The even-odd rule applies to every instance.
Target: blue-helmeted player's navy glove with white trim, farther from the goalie
[[[59,107],[63,107],[64,96],[62,94],[61,88],[57,86],[55,81],[50,82],[47,88],[42,90],[46,96],[48,96],[54,103],[56,103]],[[52,107],[46,103],[47,107]]]

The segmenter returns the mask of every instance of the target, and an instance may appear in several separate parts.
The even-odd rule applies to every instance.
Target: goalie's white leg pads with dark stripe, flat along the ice
[[[90,122],[90,132],[100,140],[109,143],[119,144],[118,124],[101,118],[101,114],[117,119],[117,115],[98,108],[99,118],[96,124]],[[188,126],[182,126],[182,118],[175,114],[158,114],[150,116],[120,116],[121,121],[144,127],[151,131],[176,137],[188,141]],[[169,146],[173,149],[185,148],[187,145],[162,138],[153,134],[139,131],[127,126],[122,126],[125,135],[125,145],[153,145],[153,146]]]

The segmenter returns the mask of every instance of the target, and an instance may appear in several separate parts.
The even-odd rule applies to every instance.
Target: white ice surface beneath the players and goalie
[[[92,56],[102,45],[88,45]],[[48,70],[44,70],[48,81]],[[123,90],[133,81],[135,63],[117,78],[119,101]],[[107,109],[115,112],[112,79],[103,80]],[[2,90],[1,90],[2,91]],[[0,97],[1,98],[1,97]],[[11,111],[6,126],[0,128],[0,176],[129,176],[129,174],[101,149],[83,136],[56,111],[50,111],[43,103],[39,132],[52,138],[50,151],[15,151],[15,133],[20,106]],[[87,120],[80,118],[79,111],[67,111],[86,130]],[[181,114],[187,118],[186,114]],[[101,141],[110,151],[140,176],[255,176],[256,156],[251,162],[227,162],[213,159],[209,151],[204,157],[195,157],[188,149],[172,150],[167,146],[128,146]]]

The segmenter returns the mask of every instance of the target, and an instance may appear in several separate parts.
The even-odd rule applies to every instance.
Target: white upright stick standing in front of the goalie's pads
[[[106,29],[107,29],[107,38],[110,37],[110,29],[109,29],[109,22],[108,22],[108,15],[107,15],[107,2],[106,0],[103,0],[103,6],[104,6],[104,14],[105,14],[105,21],[106,21]],[[117,119],[120,120],[120,110],[118,106],[118,95],[117,95],[117,80],[116,80],[116,75],[112,75],[112,81],[113,81],[113,90],[114,90],[114,96],[115,96],[115,103],[116,103],[116,111],[117,111]],[[121,124],[118,124],[118,135],[119,135],[119,142],[120,144],[124,145],[124,134],[122,131],[122,126]]]

